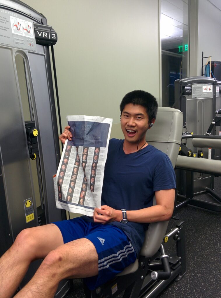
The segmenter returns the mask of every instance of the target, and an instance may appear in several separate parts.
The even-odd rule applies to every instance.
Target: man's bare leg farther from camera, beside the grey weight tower
[[[12,297],[30,263],[43,259],[63,243],[62,234],[54,224],[23,230],[0,258],[0,297]]]

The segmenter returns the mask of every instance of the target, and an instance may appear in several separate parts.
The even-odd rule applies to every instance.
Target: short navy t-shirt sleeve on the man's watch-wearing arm
[[[154,191],[176,188],[176,176],[167,155],[155,167],[153,178]]]

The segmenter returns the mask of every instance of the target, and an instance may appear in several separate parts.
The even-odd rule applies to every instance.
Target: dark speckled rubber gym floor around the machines
[[[214,190],[221,195],[221,178],[215,178]],[[213,201],[210,195],[197,198]],[[221,297],[221,220],[220,214],[187,206],[177,212],[185,221],[187,272],[179,282],[171,283],[158,298]],[[171,219],[168,229],[174,226]],[[82,280],[73,280],[65,298],[85,298]],[[121,295],[119,295],[119,298]]]

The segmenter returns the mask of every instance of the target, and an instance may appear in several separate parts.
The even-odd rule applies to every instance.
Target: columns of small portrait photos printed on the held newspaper
[[[59,201],[62,201],[62,184],[63,184],[64,179],[65,179],[65,172],[66,172],[67,167],[68,167],[68,162],[69,162],[72,147],[75,147],[75,146],[71,146],[70,144],[67,143],[66,151],[65,151],[65,154],[64,154],[63,160],[62,160],[62,165],[61,165],[61,168],[60,168],[60,171],[59,171],[59,176],[58,176],[58,200]],[[76,186],[76,180],[77,180],[77,177],[78,177],[79,168],[80,168],[80,164],[81,164],[84,175],[83,175],[83,179],[82,179],[82,183],[81,183],[81,191],[80,191],[80,195],[79,195],[78,204],[79,205],[84,205],[85,196],[86,196],[87,191],[94,192],[95,187],[96,187],[95,186],[96,169],[97,169],[97,164],[98,164],[98,161],[99,161],[100,148],[95,147],[94,154],[93,154],[93,161],[90,165],[89,164],[87,165],[89,147],[83,147],[82,159],[81,160],[80,160],[79,155],[78,155],[78,148],[79,147],[75,147],[75,148],[76,148],[76,158],[75,158],[75,161],[74,161],[73,171],[72,171],[72,174],[71,174],[70,183],[69,183],[69,187],[68,187],[68,190],[67,190],[66,202],[67,203],[72,202],[73,193],[74,193],[74,189],[75,189],[75,186]],[[86,174],[85,174],[86,165],[87,165],[87,167],[91,166],[90,181],[88,181],[87,178],[86,178]]]

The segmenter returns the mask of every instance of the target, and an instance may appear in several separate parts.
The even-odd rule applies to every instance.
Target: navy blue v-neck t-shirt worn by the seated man
[[[110,139],[105,164],[101,205],[114,209],[139,210],[153,205],[154,192],[176,188],[169,157],[148,145],[140,151],[125,154],[124,140]],[[149,224],[111,222],[131,240],[137,255]]]

